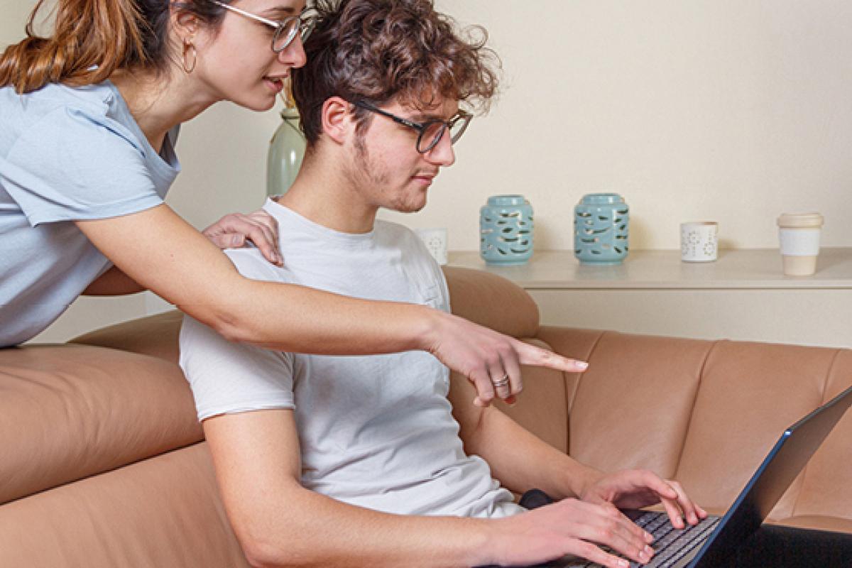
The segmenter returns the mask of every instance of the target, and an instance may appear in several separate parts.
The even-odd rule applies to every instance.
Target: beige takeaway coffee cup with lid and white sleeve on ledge
[[[787,276],[816,272],[822,223],[819,213],[785,213],[778,218],[778,240]]]

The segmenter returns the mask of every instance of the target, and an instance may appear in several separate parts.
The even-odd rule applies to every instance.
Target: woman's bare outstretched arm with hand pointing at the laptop
[[[584,365],[429,307],[365,301],[242,277],[227,256],[162,204],[133,215],[76,221],[135,282],[231,341],[296,353],[369,354],[423,350],[494,397],[508,373],[520,392],[520,364],[576,372]]]

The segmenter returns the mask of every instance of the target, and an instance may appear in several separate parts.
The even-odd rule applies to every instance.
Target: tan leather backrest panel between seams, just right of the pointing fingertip
[[[671,477],[711,347],[709,341],[602,334],[570,408],[571,455],[604,471],[648,468]]]

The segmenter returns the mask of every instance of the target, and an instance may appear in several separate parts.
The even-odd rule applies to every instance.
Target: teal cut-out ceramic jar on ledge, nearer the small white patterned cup
[[[589,193],[574,208],[574,255],[588,264],[618,264],[628,247],[630,209],[618,193]]]

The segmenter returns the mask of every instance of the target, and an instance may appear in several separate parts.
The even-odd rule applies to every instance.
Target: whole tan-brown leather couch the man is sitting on
[[[679,479],[711,511],[784,427],[852,384],[849,350],[540,327],[514,284],[446,272],[455,313],[590,361],[583,376],[526,369],[511,415],[597,468]],[[0,566],[247,565],[175,364],[179,324],[0,351]],[[852,413],[773,522],[852,532],[850,440]]]

